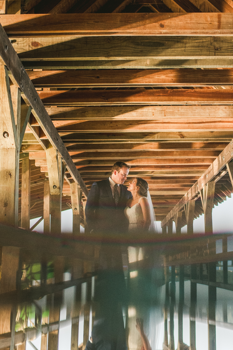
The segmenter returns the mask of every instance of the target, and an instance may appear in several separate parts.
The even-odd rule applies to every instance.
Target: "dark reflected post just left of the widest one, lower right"
[[[192,280],[197,279],[197,266],[191,265],[190,282],[190,350],[196,350],[196,304],[197,304],[197,283]]]

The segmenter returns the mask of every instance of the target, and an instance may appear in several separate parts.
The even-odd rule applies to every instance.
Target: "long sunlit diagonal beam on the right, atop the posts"
[[[213,161],[211,166],[204,172],[200,179],[190,188],[190,190],[181,198],[179,203],[173,208],[172,211],[166,216],[166,218],[161,222],[161,225],[167,223],[167,221],[172,218],[176,212],[180,211],[188,201],[190,201],[199,191],[211,181],[214,176],[216,176],[221,169],[226,166],[226,163],[233,159],[233,141],[228,144],[228,146],[219,154],[216,160]]]

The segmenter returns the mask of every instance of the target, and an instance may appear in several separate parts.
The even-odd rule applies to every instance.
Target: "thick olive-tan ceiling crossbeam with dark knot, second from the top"
[[[12,46],[21,61],[233,58],[228,36],[34,36],[11,40],[16,40]]]

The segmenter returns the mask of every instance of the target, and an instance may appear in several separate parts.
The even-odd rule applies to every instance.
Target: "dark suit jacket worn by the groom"
[[[89,230],[102,233],[124,233],[128,231],[128,222],[124,209],[131,192],[124,185],[121,187],[118,205],[112,196],[109,179],[94,182],[86,203],[86,221]]]

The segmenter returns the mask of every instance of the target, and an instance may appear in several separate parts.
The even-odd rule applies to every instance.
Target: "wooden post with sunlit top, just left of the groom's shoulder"
[[[78,184],[70,184],[71,205],[73,211],[73,235],[80,234],[80,208],[81,208],[81,189]]]

